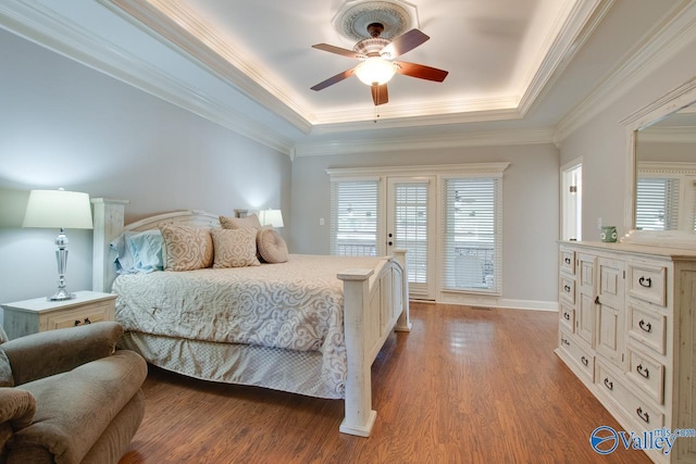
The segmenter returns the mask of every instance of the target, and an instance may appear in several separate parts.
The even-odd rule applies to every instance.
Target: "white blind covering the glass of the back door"
[[[395,186],[395,247],[408,250],[410,284],[427,283],[427,183]]]

